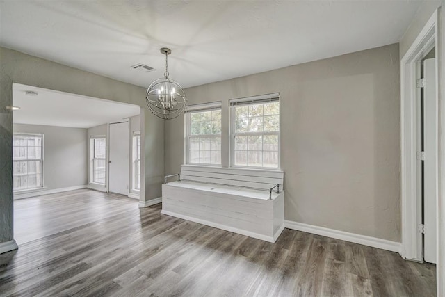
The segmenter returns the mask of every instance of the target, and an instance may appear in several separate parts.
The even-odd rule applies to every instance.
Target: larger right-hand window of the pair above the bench
[[[230,101],[232,166],[279,168],[279,95]]]

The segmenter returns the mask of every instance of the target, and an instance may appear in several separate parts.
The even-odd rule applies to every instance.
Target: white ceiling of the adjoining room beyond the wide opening
[[[37,96],[26,95],[31,90]],[[104,99],[85,97],[35,88],[13,83],[13,111],[16,124],[48,125],[59,127],[90,128],[129,118],[140,113],[140,106],[117,103]]]

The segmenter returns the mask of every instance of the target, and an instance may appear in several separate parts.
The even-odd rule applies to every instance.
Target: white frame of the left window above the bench
[[[193,113],[202,113],[207,111],[221,111],[221,131],[220,134],[199,134],[199,136],[202,137],[211,137],[211,136],[218,136],[220,137],[220,163],[191,163],[190,161],[190,139],[193,137],[191,135],[191,115]],[[222,104],[221,102],[210,102],[205,104],[194,104],[189,105],[186,107],[186,111],[184,113],[184,160],[185,163],[188,165],[195,165],[195,166],[211,166],[211,167],[222,167],[223,166],[223,110],[222,110]],[[211,150],[210,150],[211,151]]]

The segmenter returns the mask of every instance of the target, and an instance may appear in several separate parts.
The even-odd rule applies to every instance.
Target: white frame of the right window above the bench
[[[278,111],[278,131],[261,131],[261,132],[235,132],[235,121],[236,121],[236,106],[245,105],[250,106],[254,104],[268,103],[268,102],[279,102],[279,111]],[[254,170],[281,170],[281,99],[280,93],[266,94],[266,95],[258,95],[252,97],[244,97],[238,99],[229,100],[229,113],[230,113],[230,122],[229,122],[229,164],[231,168],[243,168],[243,169],[254,169]],[[263,114],[264,118],[264,114]],[[236,165],[235,164],[235,137],[236,136],[264,136],[264,135],[277,135],[278,138],[278,161],[277,167],[265,167],[265,166],[248,166],[248,165]],[[247,150],[248,152],[248,150]],[[261,149],[261,152],[263,150]]]

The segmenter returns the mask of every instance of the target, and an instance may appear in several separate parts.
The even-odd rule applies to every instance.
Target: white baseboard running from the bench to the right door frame
[[[312,234],[332,237],[334,239],[341,239],[353,243],[362,244],[364,246],[372,246],[373,248],[381,248],[382,250],[389,250],[391,252],[401,253],[401,243],[396,241],[389,241],[386,239],[379,239],[376,237],[360,235],[350,232],[344,232],[325,227],[318,227],[304,223],[297,223],[291,220],[284,220],[284,226],[289,229],[308,232]]]

